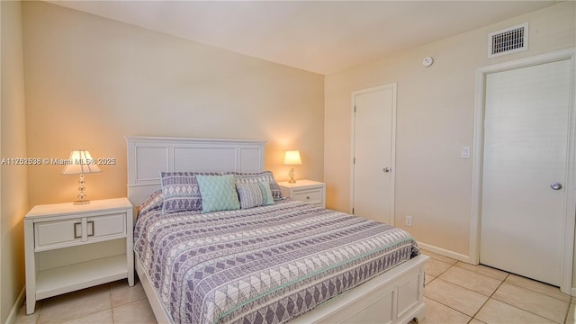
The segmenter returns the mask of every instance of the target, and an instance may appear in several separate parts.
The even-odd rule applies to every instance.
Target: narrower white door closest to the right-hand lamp
[[[352,212],[388,224],[393,224],[395,98],[395,84],[353,94]]]

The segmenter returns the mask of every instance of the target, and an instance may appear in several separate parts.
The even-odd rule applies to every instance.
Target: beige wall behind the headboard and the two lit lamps
[[[115,166],[86,175],[88,198],[126,195],[126,135],[265,139],[266,168],[323,178],[324,76],[43,2],[23,3],[28,155],[73,148]],[[76,176],[30,169],[30,202],[69,202]]]

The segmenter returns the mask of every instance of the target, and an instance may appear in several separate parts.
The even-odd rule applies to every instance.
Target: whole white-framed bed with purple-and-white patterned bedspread
[[[264,146],[257,140],[127,137],[128,196],[140,206],[135,266],[158,322],[423,319],[428,257],[414,239],[263,187],[274,183],[264,171]],[[201,210],[172,204],[160,189],[181,175],[202,180],[201,189],[206,181],[233,181],[238,203],[247,208],[211,211],[206,192]],[[254,179],[263,176],[258,187]],[[256,206],[246,188],[262,189]]]

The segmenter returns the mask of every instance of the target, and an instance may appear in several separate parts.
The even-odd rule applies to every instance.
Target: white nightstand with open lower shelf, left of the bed
[[[24,217],[26,313],[36,301],[128,278],[133,209],[126,198],[37,205]]]

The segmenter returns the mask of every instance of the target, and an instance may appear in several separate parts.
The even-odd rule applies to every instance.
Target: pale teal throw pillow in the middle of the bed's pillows
[[[196,175],[202,195],[202,213],[240,209],[234,175]]]

